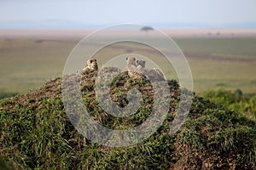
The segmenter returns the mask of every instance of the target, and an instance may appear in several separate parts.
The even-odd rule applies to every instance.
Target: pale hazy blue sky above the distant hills
[[[67,20],[84,24],[256,22],[256,0],[0,0],[0,24]]]

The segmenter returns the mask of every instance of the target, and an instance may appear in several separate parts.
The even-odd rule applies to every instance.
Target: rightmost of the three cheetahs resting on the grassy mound
[[[147,77],[148,80],[152,81],[163,81],[165,80],[165,77],[163,73],[156,68],[148,69],[146,68],[146,61],[145,60],[139,60],[137,59],[137,69],[143,73],[145,77]]]

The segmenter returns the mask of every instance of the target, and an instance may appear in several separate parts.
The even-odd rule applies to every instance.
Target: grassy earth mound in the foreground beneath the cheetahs
[[[119,119],[98,107],[93,90],[95,74],[84,72],[81,82],[84,105],[91,116],[114,129],[134,127],[145,120],[151,111],[153,93],[147,81],[133,81],[125,73],[113,81],[111,95],[117,105],[127,105],[125,93],[132,87],[143,94],[143,105],[137,113]],[[26,95],[0,100],[0,166],[10,169],[256,168],[256,122],[207,99],[195,96],[183,127],[170,135],[180,89],[176,81],[168,84],[172,105],[165,122],[143,143],[120,148],[92,143],[77,132],[61,101],[61,78]]]

